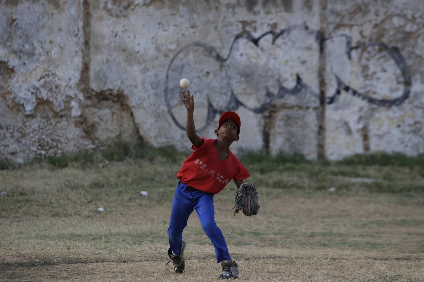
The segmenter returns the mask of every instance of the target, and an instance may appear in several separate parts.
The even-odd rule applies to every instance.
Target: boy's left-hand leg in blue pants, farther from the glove
[[[172,202],[171,218],[169,221],[168,238],[172,253],[178,256],[181,252],[182,233],[187,226],[187,220],[193,211],[190,192],[185,191],[185,184],[177,185]]]

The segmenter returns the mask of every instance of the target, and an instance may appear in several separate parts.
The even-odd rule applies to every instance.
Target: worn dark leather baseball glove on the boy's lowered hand
[[[245,216],[256,216],[259,210],[257,187],[252,183],[243,183],[235,195],[234,216],[243,210]]]

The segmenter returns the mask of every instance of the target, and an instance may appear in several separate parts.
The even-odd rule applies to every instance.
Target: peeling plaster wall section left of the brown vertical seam
[[[80,30],[78,3],[2,1],[0,157],[22,162],[90,144],[74,127]]]

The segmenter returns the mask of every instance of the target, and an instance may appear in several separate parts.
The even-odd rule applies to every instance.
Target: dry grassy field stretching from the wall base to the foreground
[[[215,281],[220,265],[195,213],[183,233],[186,272],[165,270],[183,160],[94,157],[0,171],[0,281]],[[244,163],[259,185],[259,215],[234,216],[234,182],[214,197],[240,280],[424,281],[424,166]]]

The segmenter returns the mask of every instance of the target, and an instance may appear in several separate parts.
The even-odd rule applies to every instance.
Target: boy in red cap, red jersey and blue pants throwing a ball
[[[240,117],[227,111],[219,119],[216,139],[201,138],[196,134],[193,112],[193,94],[183,91],[183,102],[187,108],[187,137],[194,152],[184,161],[177,173],[179,179],[168,228],[168,256],[173,261],[174,271],[183,273],[185,269],[182,232],[193,210],[199,217],[206,235],[215,247],[217,263],[221,263],[222,273],[218,279],[237,278],[237,263],[231,260],[227,244],[221,230],[215,223],[213,195],[218,194],[230,180],[234,179],[237,188],[250,176],[243,164],[229,150],[233,141],[239,140]]]

